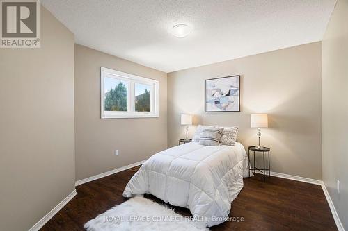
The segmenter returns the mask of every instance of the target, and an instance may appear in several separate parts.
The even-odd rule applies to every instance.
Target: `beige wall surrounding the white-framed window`
[[[100,67],[159,80],[159,118],[100,119]],[[77,180],[145,160],[167,148],[164,72],[76,45],[74,94]]]

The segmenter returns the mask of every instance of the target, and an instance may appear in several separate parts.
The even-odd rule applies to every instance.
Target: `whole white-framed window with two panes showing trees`
[[[100,68],[102,119],[158,117],[159,82]]]

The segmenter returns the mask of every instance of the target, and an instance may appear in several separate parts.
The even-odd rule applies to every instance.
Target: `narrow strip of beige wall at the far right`
[[[345,230],[348,230],[347,22],[348,1],[339,0],[322,42],[323,180]]]

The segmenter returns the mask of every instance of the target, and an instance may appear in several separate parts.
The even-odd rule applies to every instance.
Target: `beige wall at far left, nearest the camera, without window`
[[[74,36],[41,9],[40,49],[0,49],[0,230],[74,190]]]

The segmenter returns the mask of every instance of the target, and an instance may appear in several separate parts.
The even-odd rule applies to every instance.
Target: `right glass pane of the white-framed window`
[[[151,86],[141,83],[135,84],[135,110],[136,112],[151,111]]]

